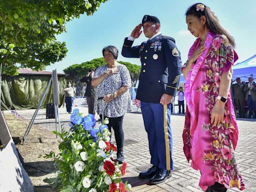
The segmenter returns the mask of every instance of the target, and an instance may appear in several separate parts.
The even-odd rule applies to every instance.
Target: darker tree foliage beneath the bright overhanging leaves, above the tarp
[[[14,46],[0,41],[0,58],[3,74],[15,75],[18,67],[42,70],[51,63],[60,61],[67,52],[65,42],[48,40],[45,43],[28,42],[25,47]]]

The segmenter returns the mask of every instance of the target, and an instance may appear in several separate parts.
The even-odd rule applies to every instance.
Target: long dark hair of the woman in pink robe
[[[206,26],[207,28],[211,31],[214,32],[216,34],[224,34],[227,39],[229,40],[230,44],[234,47],[235,46],[235,42],[234,42],[234,37],[232,37],[224,28],[223,26],[221,26],[221,24],[219,23],[218,17],[217,15],[205,4],[203,4],[204,8],[203,10],[196,10],[196,5],[197,4],[203,4],[203,3],[195,3],[192,6],[190,6],[187,10],[185,15],[193,15],[196,16],[198,18],[200,18],[201,16],[205,16],[206,17]]]

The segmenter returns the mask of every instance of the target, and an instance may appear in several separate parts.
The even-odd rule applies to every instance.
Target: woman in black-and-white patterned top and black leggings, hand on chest
[[[130,73],[127,67],[116,61],[118,49],[109,45],[102,49],[104,60],[107,64],[96,68],[91,81],[96,86],[96,105],[98,114],[108,118],[109,131],[114,130],[114,137],[117,146],[117,158],[119,163],[124,162],[122,129],[123,116],[131,110],[129,87],[131,87]],[[102,99],[103,98],[103,99]],[[107,103],[103,111],[105,102]]]

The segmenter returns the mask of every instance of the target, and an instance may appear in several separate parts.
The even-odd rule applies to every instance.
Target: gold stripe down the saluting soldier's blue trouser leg
[[[165,155],[166,155],[166,169],[170,170],[170,146],[169,146],[169,134],[167,124],[167,104],[163,105],[163,128],[165,138]]]

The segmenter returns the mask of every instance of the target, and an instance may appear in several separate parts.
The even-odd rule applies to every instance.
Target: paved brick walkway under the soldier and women
[[[87,107],[78,107],[80,111],[87,113]],[[134,109],[134,108],[133,108]],[[18,113],[27,119],[33,115],[34,109],[19,110]],[[65,113],[65,108],[59,108],[60,121],[64,127],[68,128],[70,114]],[[45,119],[45,109],[40,109],[36,116],[35,123],[49,130],[55,129],[54,119]],[[184,116],[172,115],[171,127],[173,137],[173,160],[175,170],[171,178],[164,183],[157,185],[148,185],[149,179],[140,179],[137,177],[141,170],[147,169],[150,164],[150,154],[148,151],[147,135],[144,130],[142,115],[136,110],[125,114],[123,128],[125,134],[124,154],[128,163],[127,173],[123,180],[128,180],[132,185],[131,191],[182,191],[199,192],[198,187],[200,177],[199,171],[190,168],[183,154],[182,129]],[[256,121],[255,120],[237,120],[239,128],[239,139],[235,150],[236,161],[239,170],[245,180],[246,190],[256,191]],[[114,139],[113,139],[114,140]],[[239,191],[239,190],[228,190]]]

